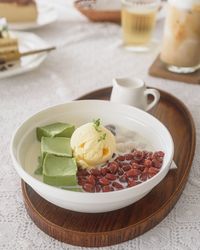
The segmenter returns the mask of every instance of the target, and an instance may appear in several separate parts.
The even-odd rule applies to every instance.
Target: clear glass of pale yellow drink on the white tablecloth
[[[160,0],[121,0],[124,46],[132,51],[150,49]]]

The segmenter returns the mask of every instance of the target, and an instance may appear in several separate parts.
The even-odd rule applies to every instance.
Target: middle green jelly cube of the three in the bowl
[[[42,137],[41,152],[43,157],[45,156],[45,154],[72,157],[70,138]]]

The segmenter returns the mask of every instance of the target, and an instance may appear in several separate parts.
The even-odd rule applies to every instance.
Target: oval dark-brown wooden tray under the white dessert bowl
[[[111,88],[80,99],[109,99]],[[22,181],[24,202],[35,224],[57,240],[78,246],[100,247],[133,239],[157,225],[173,208],[186,184],[195,151],[195,127],[185,105],[161,92],[152,114],[170,130],[175,143],[174,161],[164,180],[148,195],[120,210],[87,214],[59,208],[41,198]]]

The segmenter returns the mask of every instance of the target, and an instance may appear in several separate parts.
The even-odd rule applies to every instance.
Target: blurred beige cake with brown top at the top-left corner
[[[8,22],[34,22],[37,20],[37,5],[34,0],[0,0],[0,16]]]

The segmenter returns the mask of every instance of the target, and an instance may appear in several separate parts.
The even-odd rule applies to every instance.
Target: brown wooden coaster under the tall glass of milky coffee
[[[187,82],[200,84],[200,70],[190,74],[176,74],[166,69],[165,65],[160,60],[160,55],[157,56],[151,67],[149,68],[151,76],[160,77],[179,82]]]

